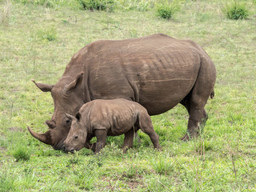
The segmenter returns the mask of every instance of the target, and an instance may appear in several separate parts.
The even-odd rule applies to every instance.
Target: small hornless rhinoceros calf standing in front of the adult
[[[87,102],[74,116],[66,114],[72,120],[70,132],[64,141],[66,151],[74,152],[84,146],[97,154],[106,144],[106,136],[125,134],[123,150],[133,146],[134,133],[141,129],[150,136],[154,148],[160,149],[158,134],[155,133],[150,115],[137,102],[126,99],[94,100]],[[96,136],[96,146],[90,145],[90,139]]]

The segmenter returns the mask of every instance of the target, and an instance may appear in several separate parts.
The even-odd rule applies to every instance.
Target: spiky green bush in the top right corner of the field
[[[226,14],[226,18],[234,20],[246,19],[249,16],[249,11],[246,9],[246,4],[240,3],[239,1],[226,4],[222,11],[224,14]]]

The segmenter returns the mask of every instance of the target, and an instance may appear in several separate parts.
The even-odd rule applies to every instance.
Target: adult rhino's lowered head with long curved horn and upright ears
[[[78,74],[73,82],[70,77],[62,77],[56,85],[48,85],[34,82],[44,92],[51,92],[54,99],[54,115],[50,121],[46,121],[49,130],[44,134],[38,134],[28,127],[30,134],[40,142],[54,147],[54,150],[62,150],[63,142],[70,131],[72,119],[67,114],[76,114],[84,104],[84,91],[82,90],[83,73]]]

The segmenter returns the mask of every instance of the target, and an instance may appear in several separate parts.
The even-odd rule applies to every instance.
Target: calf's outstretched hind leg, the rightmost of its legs
[[[138,114],[138,121],[140,129],[150,136],[151,142],[154,145],[155,149],[161,150],[161,146],[159,145],[159,136],[154,131],[154,126],[152,125],[150,115],[148,114]]]

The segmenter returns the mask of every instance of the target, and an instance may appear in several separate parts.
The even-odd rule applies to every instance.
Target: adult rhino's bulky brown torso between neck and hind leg
[[[84,56],[90,99],[131,99],[150,115],[170,110],[186,97],[198,77],[202,52],[190,41],[163,34],[101,40],[85,50],[90,55]]]

